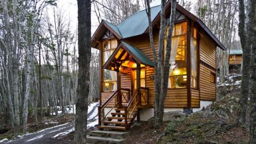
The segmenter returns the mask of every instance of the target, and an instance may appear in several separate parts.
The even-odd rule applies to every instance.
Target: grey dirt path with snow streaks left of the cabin
[[[88,113],[88,123],[94,121],[95,117],[97,116],[94,114],[95,111],[98,111],[97,107],[98,107],[98,104],[96,104],[96,106],[94,106],[92,108],[92,111],[90,111]],[[70,123],[64,123],[63,125],[57,125],[55,127],[43,129],[36,133],[25,135],[19,139],[13,139],[12,141],[7,142],[7,144],[61,143],[61,141],[63,141],[63,139],[57,139],[54,137],[59,133],[64,133],[66,131],[72,131],[72,129],[74,129],[74,121],[71,121]]]

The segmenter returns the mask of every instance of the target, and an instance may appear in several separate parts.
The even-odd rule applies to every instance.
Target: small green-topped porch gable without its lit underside
[[[108,69],[108,66],[110,66],[111,61],[116,60],[116,54],[118,54],[120,48],[123,48],[126,52],[128,52],[128,54],[131,55],[132,58],[134,58],[134,60],[139,64],[154,67],[154,63],[142,51],[126,42],[121,42],[118,45],[118,47],[114,50],[114,52],[111,54],[110,58],[108,58],[108,60],[104,64],[104,69]]]

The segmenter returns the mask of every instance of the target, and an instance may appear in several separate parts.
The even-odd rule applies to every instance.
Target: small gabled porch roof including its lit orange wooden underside
[[[103,68],[116,71],[119,66],[131,68],[134,63],[154,67],[154,63],[142,51],[126,42],[121,42]]]

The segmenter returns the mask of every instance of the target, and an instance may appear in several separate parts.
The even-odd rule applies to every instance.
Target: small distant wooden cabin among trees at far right
[[[229,51],[229,73],[241,72],[241,65],[243,62],[243,50]]]

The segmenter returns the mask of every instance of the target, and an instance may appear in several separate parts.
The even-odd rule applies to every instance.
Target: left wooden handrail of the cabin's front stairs
[[[114,106],[112,106],[112,108],[110,109],[110,111],[108,111],[108,113],[106,113],[106,115],[104,114],[104,111],[102,112],[102,118],[100,115],[100,111],[102,111],[102,109],[104,110],[104,108],[113,100],[113,98],[115,98],[115,96],[117,96],[116,94],[118,93],[119,90],[116,90],[112,96],[110,96],[110,98],[108,98],[108,100],[106,100],[101,106],[98,106],[98,125],[101,125],[101,121],[102,119],[104,119],[106,117],[106,115],[108,115],[108,113],[110,113],[110,111],[116,106],[117,102],[115,102]]]

